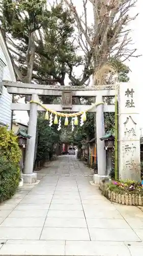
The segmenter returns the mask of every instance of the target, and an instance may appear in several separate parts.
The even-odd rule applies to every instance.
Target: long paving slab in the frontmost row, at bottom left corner
[[[0,255],[65,255],[65,241],[8,241]]]

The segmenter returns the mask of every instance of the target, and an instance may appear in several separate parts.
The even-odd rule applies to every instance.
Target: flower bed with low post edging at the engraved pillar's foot
[[[143,206],[143,189],[141,183],[138,182],[112,181],[108,184],[104,195],[110,201],[119,204]]]

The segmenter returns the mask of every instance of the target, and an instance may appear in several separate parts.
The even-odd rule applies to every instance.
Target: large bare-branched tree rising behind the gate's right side
[[[130,29],[127,25],[131,23],[138,14],[129,16],[129,11],[133,8],[137,0],[83,0],[83,15],[79,15],[72,0],[64,0],[73,13],[78,28],[77,41],[85,58],[88,59],[84,66],[82,81],[85,78],[85,70],[91,63],[94,69],[100,69],[110,58],[115,58],[122,62],[136,55],[136,49],[130,38]],[[93,7],[93,28],[87,22],[87,3]],[[89,58],[89,52],[91,53]]]

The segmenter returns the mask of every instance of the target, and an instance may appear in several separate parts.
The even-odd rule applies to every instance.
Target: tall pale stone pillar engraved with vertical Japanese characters
[[[140,181],[139,105],[136,84],[119,86],[119,178]]]

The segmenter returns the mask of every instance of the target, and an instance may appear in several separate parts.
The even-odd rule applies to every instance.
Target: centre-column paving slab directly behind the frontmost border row
[[[87,228],[44,227],[41,240],[90,240]]]

